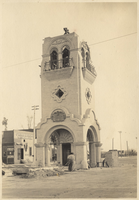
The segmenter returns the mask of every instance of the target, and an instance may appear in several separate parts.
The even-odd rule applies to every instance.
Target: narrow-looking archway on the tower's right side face
[[[97,134],[94,127],[89,127],[87,131],[87,159],[91,167],[96,166],[96,142]]]

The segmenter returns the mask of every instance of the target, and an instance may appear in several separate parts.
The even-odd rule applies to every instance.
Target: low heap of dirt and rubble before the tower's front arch
[[[45,178],[49,176],[60,176],[63,175],[64,171],[56,169],[30,169],[27,173],[22,174],[21,178]]]

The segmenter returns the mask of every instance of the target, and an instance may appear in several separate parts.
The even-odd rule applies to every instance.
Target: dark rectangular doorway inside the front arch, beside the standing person
[[[64,143],[62,144],[62,163],[65,165],[67,163],[67,157],[71,153],[71,144]]]

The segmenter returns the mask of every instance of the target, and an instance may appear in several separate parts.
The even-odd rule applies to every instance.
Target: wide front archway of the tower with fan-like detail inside
[[[69,130],[57,128],[46,134],[45,165],[65,165],[67,157],[74,152],[74,138]]]

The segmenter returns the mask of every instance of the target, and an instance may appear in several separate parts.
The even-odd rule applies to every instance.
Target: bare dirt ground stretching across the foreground
[[[137,198],[137,157],[119,158],[115,168],[66,170],[45,178],[7,173],[2,177],[2,198]]]

